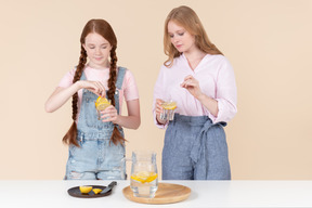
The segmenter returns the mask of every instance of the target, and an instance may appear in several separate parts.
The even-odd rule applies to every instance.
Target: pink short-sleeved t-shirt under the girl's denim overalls
[[[76,72],[76,68],[68,72],[60,81],[58,87],[68,88],[69,86],[72,86],[73,79],[75,76],[75,72]],[[91,68],[90,66],[87,65],[83,73],[87,77],[87,80],[101,81],[102,84],[104,86],[104,88],[106,90],[108,89],[107,81],[109,78],[109,68],[95,69],[95,68]],[[118,74],[118,69],[117,69],[117,74]],[[135,83],[135,79],[134,79],[133,74],[129,69],[126,70],[122,87],[121,87],[121,90],[119,90],[119,106],[120,106],[119,114],[120,115],[121,115],[121,109],[122,109],[123,96],[125,96],[126,102],[139,99],[139,91],[138,91],[138,87]],[[82,101],[82,89],[78,91],[78,98],[79,98],[79,100],[78,100],[77,118],[79,118],[79,113],[80,113],[80,105],[81,105],[81,101]]]

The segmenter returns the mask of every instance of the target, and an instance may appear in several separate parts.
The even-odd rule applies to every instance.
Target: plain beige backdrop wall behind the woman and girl
[[[166,60],[165,18],[181,4],[235,70],[238,114],[225,128],[233,179],[312,180],[311,0],[1,0],[0,180],[63,179],[70,102],[53,114],[43,105],[77,64],[90,18],[112,24],[118,64],[139,86],[142,125],[126,130],[127,155],[156,151],[160,172],[165,131],[153,123],[153,88]]]

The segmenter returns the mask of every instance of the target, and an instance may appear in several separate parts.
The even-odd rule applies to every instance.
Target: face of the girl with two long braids
[[[101,35],[91,32],[82,44],[89,57],[89,65],[92,68],[106,68],[109,66],[108,56],[112,50],[110,43]]]

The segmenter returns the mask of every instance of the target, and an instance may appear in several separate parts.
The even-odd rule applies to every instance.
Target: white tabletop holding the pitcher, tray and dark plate
[[[0,207],[140,208],[140,207],[312,207],[312,181],[162,181],[188,186],[190,197],[177,204],[146,205],[128,200],[117,181],[112,195],[76,198],[67,190],[79,185],[107,185],[110,181],[0,181]]]

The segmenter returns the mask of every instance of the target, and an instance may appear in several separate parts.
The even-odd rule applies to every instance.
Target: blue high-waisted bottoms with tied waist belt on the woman
[[[225,125],[176,114],[165,135],[162,180],[230,180]]]

